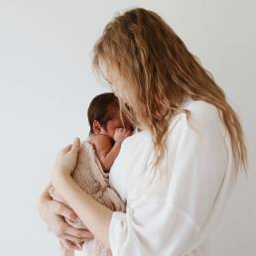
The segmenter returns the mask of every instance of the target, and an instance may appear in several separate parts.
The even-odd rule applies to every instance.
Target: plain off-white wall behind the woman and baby
[[[251,0],[0,0],[0,254],[59,255],[36,211],[57,151],[88,133],[90,99],[106,91],[90,53],[120,10],[158,12],[209,69],[240,115],[249,176],[214,234],[214,256],[256,255],[256,4]]]

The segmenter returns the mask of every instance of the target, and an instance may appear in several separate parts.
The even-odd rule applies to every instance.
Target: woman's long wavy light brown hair
[[[102,75],[103,62],[109,70],[116,68],[129,85],[122,88],[129,94],[125,100],[118,97],[120,108],[135,126],[150,130],[156,164],[164,155],[170,119],[178,112],[190,119],[190,111],[180,107],[189,96],[218,109],[230,136],[236,174],[240,166],[246,172],[247,152],[237,114],[212,75],[158,14],[136,8],[115,17],[106,25],[93,54],[98,74]]]

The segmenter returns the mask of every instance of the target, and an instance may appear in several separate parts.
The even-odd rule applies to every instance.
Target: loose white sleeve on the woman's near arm
[[[113,256],[186,255],[199,239],[225,175],[228,152],[216,111],[195,115],[194,121],[196,131],[181,114],[170,130],[172,170],[164,197],[157,196],[161,189],[156,185],[155,193],[138,197],[126,213],[113,213]]]

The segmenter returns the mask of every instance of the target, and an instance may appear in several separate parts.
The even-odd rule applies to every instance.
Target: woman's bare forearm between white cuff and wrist
[[[109,224],[113,211],[83,192],[70,177],[63,177],[58,191],[93,235],[110,247]]]

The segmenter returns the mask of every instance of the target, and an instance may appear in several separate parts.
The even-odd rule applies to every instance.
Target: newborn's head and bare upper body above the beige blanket
[[[89,142],[94,146],[103,170],[108,172],[122,142],[131,135],[134,127],[125,116],[121,118],[118,98],[110,92],[92,99],[87,116],[90,126]]]

